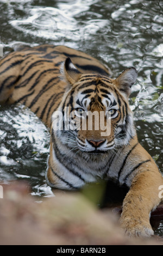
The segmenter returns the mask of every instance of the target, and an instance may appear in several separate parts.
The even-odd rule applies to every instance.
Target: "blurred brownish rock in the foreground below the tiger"
[[[130,239],[115,214],[98,210],[79,193],[53,198],[29,195],[27,183],[4,185],[0,199],[1,245],[157,245],[155,239]]]

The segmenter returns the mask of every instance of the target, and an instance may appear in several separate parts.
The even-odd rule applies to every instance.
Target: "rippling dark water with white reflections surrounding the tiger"
[[[163,2],[0,0],[0,9],[4,54],[17,44],[63,44],[98,58],[113,77],[135,66],[130,106],[137,134],[163,172]],[[28,180],[33,195],[52,196],[44,177],[48,130],[28,108],[0,110],[0,179]],[[162,225],[156,234],[163,235]]]

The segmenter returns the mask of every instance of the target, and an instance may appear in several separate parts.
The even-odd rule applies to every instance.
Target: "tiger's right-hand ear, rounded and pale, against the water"
[[[136,78],[137,71],[135,68],[131,67],[124,70],[122,74],[116,78],[115,83],[120,92],[129,97],[131,93],[131,86],[135,83]]]

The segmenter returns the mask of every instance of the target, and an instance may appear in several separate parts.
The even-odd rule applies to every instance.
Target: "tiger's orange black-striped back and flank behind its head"
[[[95,58],[66,46],[23,48],[0,62],[0,104],[23,103],[49,127],[65,92],[60,69],[67,57],[85,74],[111,74]]]

